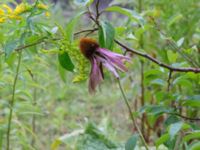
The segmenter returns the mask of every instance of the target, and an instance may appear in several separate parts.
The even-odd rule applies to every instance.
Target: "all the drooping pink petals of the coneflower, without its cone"
[[[90,93],[95,92],[97,85],[103,80],[102,65],[112,72],[116,78],[119,78],[117,69],[127,71],[128,69],[125,67],[124,61],[131,61],[127,56],[111,52],[104,48],[97,48],[89,60],[92,66],[89,79]]]

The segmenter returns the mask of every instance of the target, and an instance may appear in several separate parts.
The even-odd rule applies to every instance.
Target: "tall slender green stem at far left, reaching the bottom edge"
[[[22,57],[22,52],[20,51],[19,57],[18,57],[16,75],[15,75],[14,82],[13,82],[12,98],[11,98],[11,101],[10,101],[8,129],[7,129],[7,133],[6,133],[6,136],[7,136],[6,150],[10,150],[10,129],[11,129],[12,116],[13,116],[13,106],[14,106],[14,101],[15,101],[15,90],[16,90],[17,79],[18,79],[18,76],[19,76],[19,69],[20,69],[20,64],[21,64],[21,57]]]

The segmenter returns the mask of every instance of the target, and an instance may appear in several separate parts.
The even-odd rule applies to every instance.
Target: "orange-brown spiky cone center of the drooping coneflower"
[[[80,40],[80,50],[81,53],[88,59],[90,59],[95,52],[95,50],[99,47],[99,44],[96,40],[91,38],[81,38]]]

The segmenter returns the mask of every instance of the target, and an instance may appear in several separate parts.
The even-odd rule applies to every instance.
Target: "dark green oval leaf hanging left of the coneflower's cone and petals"
[[[71,61],[71,58],[69,57],[67,52],[62,52],[58,54],[58,60],[60,65],[65,68],[68,71],[73,71],[74,70],[74,64]]]

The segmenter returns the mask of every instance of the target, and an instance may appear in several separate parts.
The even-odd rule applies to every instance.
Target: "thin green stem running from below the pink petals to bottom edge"
[[[128,99],[126,98],[126,95],[125,95],[125,93],[124,93],[124,90],[123,90],[122,85],[121,85],[121,82],[120,82],[120,79],[117,78],[117,81],[118,81],[118,85],[119,85],[120,91],[121,91],[121,93],[122,93],[124,102],[126,103],[126,106],[127,106],[127,108],[128,108],[129,115],[130,115],[130,117],[131,117],[133,126],[136,128],[137,132],[139,133],[140,139],[141,139],[142,143],[144,144],[145,148],[146,148],[147,150],[149,150],[148,145],[147,145],[147,143],[146,143],[146,141],[145,141],[145,139],[144,139],[144,136],[142,135],[142,132],[140,131],[140,128],[138,127],[138,125],[137,125],[137,123],[136,123],[136,121],[135,121],[135,118],[133,117],[133,112],[132,112],[132,110],[131,110],[131,106],[129,105]]]

